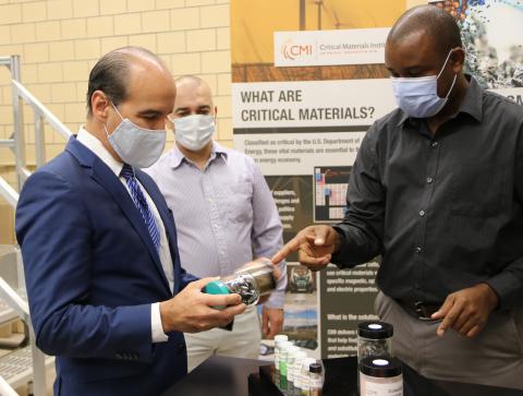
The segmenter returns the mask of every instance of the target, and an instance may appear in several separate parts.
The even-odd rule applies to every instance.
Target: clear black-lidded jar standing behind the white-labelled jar
[[[367,356],[392,355],[392,335],[394,328],[391,324],[378,321],[362,322],[357,325],[357,361]]]

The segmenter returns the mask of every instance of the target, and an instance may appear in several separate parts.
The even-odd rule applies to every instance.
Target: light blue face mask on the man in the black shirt
[[[437,115],[443,108],[458,77],[458,74],[455,74],[452,85],[445,98],[439,97],[438,79],[447,65],[451,52],[452,50],[449,51],[438,75],[427,75],[424,77],[391,77],[398,107],[400,107],[409,117],[429,118]]]

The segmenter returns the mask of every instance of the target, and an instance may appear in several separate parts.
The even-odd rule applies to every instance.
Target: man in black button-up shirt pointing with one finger
[[[299,251],[315,269],[352,267],[381,254],[376,308],[403,361],[523,388],[523,108],[465,75],[464,56],[445,11],[398,20],[386,67],[400,108],[368,130],[343,221],[305,228],[273,262]]]

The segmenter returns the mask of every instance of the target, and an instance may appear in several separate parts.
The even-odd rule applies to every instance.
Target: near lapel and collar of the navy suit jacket
[[[84,161],[84,166],[90,165],[90,177],[101,187],[104,187],[106,191],[108,191],[112,195],[112,197],[114,199],[114,203],[120,206],[123,214],[129,219],[134,230],[138,233],[147,251],[149,252],[149,255],[155,263],[158,275],[162,279],[163,285],[169,290],[169,293],[172,295],[172,291],[169,287],[169,281],[166,278],[166,273],[163,272],[163,267],[161,266],[160,256],[158,255],[158,251],[153,244],[153,240],[150,239],[144,218],[134,205],[134,202],[131,199],[131,195],[129,194],[125,187],[118,179],[114,172],[106,164],[104,164],[101,159],[99,159],[95,154],[93,154],[88,148],[84,147],[76,140],[70,141],[70,143],[68,144],[68,151],[71,154],[75,155],[78,160],[81,160],[81,163]],[[92,158],[89,158],[89,154]],[[87,164],[88,159],[90,159],[90,164]]]

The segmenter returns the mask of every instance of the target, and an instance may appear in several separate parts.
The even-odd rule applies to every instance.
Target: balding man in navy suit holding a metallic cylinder
[[[22,190],[16,236],[37,345],[57,356],[54,395],[158,395],[186,373],[182,332],[245,310],[181,267],[172,213],[138,169],[163,151],[174,95],[151,52],[104,56],[85,128]]]

